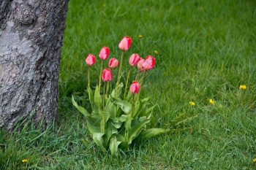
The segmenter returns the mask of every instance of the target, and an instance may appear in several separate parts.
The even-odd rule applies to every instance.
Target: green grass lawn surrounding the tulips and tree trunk
[[[253,0],[70,0],[59,122],[44,132],[30,123],[13,132],[1,130],[0,169],[256,169],[255,33]],[[118,42],[126,35],[132,46],[125,62],[132,53],[156,58],[141,95],[157,104],[159,127],[181,113],[198,116],[188,123],[190,131],[135,142],[126,155],[112,158],[91,140],[70,96],[82,96],[86,89],[86,55],[97,56],[106,45],[110,57],[121,58]],[[97,57],[93,85],[99,68]]]

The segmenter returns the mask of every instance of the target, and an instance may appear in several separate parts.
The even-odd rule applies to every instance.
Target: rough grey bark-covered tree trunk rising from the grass
[[[0,0],[0,127],[35,112],[58,117],[58,78],[68,0]]]

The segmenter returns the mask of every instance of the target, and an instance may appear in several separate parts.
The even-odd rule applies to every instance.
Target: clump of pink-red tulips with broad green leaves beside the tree
[[[91,132],[94,142],[102,151],[110,150],[113,156],[118,156],[120,151],[128,150],[129,144],[135,138],[146,139],[170,131],[166,128],[153,128],[156,124],[152,115],[155,106],[149,107],[151,105],[148,101],[149,98],[140,99],[140,89],[145,73],[147,70],[153,69],[155,65],[155,58],[152,55],[148,55],[144,59],[134,53],[129,57],[130,67],[123,93],[123,83],[120,82],[121,66],[124,52],[129,49],[131,44],[132,39],[129,36],[124,36],[118,44],[118,47],[122,50],[120,63],[116,58],[110,58],[109,68],[106,69],[103,69],[103,61],[108,58],[110,49],[102,47],[99,52],[99,58],[101,59],[99,85],[96,85],[94,93],[90,87],[90,67],[94,65],[96,58],[93,54],[87,55],[85,59],[89,66],[87,92],[91,104],[91,113],[80,107],[72,97],[72,104],[86,117],[86,126]],[[113,79],[111,70],[118,66],[116,87],[111,91],[109,89],[109,82]],[[135,66],[138,67],[138,73],[127,93],[130,72]],[[143,73],[142,77],[140,76],[141,73]],[[101,93],[102,81],[104,82],[103,93]],[[135,99],[136,102],[134,102]]]

